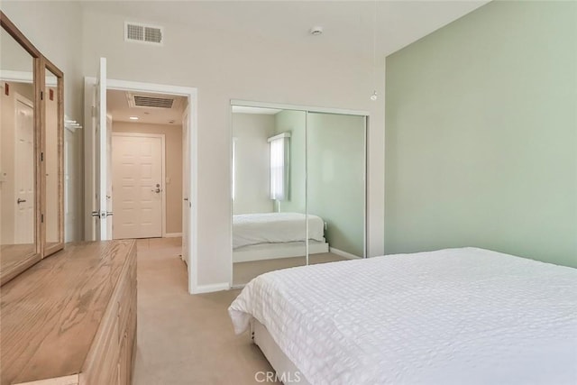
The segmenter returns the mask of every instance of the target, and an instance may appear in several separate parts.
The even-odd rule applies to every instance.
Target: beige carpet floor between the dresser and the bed
[[[191,296],[179,238],[138,241],[134,385],[254,384],[271,371],[249,335],[234,335],[227,307],[240,290]],[[268,382],[270,383],[270,382]]]

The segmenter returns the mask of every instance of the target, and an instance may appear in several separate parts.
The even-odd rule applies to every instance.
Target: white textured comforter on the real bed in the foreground
[[[482,249],[278,270],[229,307],[312,384],[575,384],[577,270]]]

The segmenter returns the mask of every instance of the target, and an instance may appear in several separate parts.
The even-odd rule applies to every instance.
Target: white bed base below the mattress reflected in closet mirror
[[[304,242],[287,243],[260,243],[250,246],[243,246],[233,251],[234,262],[248,262],[261,260],[275,260],[279,258],[302,257],[305,254],[307,245]],[[326,242],[309,240],[308,253],[317,254],[328,252],[329,247]]]

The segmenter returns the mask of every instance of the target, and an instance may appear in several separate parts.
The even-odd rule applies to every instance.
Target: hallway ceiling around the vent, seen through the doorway
[[[138,93],[138,95],[167,97],[167,95],[158,95],[151,93]],[[126,91],[109,89],[106,91],[106,112],[112,115],[114,122],[132,122],[140,124],[182,124],[182,114],[187,107],[187,100],[184,96],[174,97],[173,108],[158,107],[130,107],[126,97]],[[131,120],[130,116],[137,116],[138,121]]]

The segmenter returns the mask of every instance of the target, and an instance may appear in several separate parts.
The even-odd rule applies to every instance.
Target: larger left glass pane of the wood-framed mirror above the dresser
[[[0,278],[37,254],[34,60],[0,34]]]

